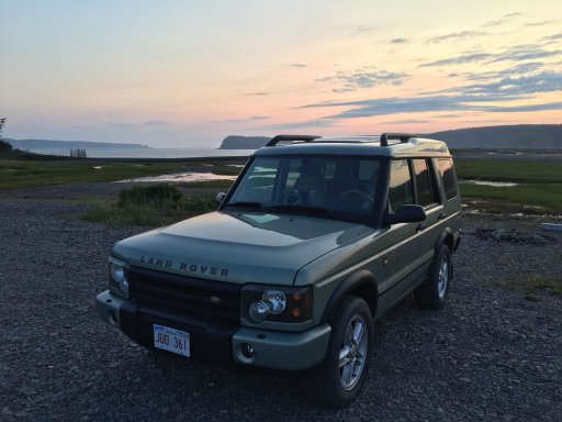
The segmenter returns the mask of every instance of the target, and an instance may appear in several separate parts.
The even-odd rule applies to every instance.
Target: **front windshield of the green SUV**
[[[363,157],[256,157],[226,207],[367,216],[373,212],[379,169],[379,160]]]

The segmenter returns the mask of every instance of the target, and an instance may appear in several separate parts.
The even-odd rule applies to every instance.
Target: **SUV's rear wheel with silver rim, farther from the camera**
[[[441,309],[449,298],[451,280],[451,251],[441,245],[434,257],[429,278],[414,291],[416,301],[425,308]]]

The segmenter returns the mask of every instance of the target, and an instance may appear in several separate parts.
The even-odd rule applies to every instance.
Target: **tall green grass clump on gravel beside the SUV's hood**
[[[92,203],[82,220],[109,226],[168,225],[216,210],[212,195],[184,196],[177,187],[158,184],[124,188],[119,199]]]

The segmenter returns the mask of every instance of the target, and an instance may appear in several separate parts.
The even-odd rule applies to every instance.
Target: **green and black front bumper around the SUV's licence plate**
[[[331,332],[327,323],[301,333],[211,324],[204,319],[140,308],[109,290],[100,293],[95,303],[103,322],[145,346],[154,347],[153,325],[157,323],[189,332],[194,358],[272,369],[303,370],[318,365],[326,355]],[[254,349],[251,357],[243,354],[247,345]]]

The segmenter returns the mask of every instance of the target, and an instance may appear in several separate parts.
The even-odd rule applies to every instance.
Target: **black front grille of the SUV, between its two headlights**
[[[140,307],[160,309],[182,316],[239,322],[238,285],[178,276],[132,267],[130,295]]]

